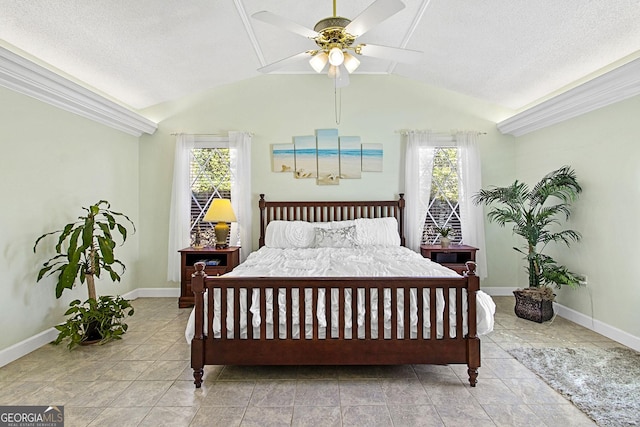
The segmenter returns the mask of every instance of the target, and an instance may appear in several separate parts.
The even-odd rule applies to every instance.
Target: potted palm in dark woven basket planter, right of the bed
[[[563,166],[545,175],[532,189],[516,180],[508,187],[491,187],[474,196],[476,204],[491,206],[487,213],[490,222],[502,227],[513,224],[513,232],[525,239],[522,248],[514,247],[525,256],[529,274],[529,287],[514,291],[519,317],[538,322],[551,319],[555,295],[550,287],[579,285],[575,273],[542,252],[549,243],[568,247],[580,240],[580,233],[559,226],[562,218],[571,216],[571,203],[581,192],[575,172]]]

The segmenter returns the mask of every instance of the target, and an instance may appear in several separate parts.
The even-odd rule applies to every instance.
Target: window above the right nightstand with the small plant
[[[422,243],[438,243],[438,228],[453,230],[452,241],[462,240],[458,202],[458,148],[435,147],[431,194],[422,232]]]

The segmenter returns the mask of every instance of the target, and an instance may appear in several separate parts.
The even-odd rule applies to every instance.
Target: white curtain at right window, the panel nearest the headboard
[[[431,132],[407,133],[405,154],[406,246],[420,252],[424,220],[429,208],[431,176],[436,142]]]

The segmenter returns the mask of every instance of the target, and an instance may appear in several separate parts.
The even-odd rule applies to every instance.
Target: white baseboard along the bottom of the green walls
[[[510,287],[487,287],[482,288],[483,291],[491,296],[512,296],[513,291],[517,288]],[[127,292],[122,295],[126,299],[135,300],[137,298],[178,298],[180,296],[179,288],[139,288],[134,289],[131,292]],[[591,329],[607,338],[626,345],[636,351],[640,351],[640,338],[631,335],[613,326],[607,325],[599,320],[594,320],[589,316],[586,316],[580,312],[577,312],[571,308],[565,307],[558,303],[553,304],[556,313],[560,317],[571,320],[578,325],[584,326],[587,329]],[[0,367],[8,365],[21,358],[24,355],[31,353],[32,351],[42,347],[45,344],[50,343],[56,339],[58,331],[55,328],[47,329],[40,332],[24,341],[12,345],[9,348],[0,350]]]

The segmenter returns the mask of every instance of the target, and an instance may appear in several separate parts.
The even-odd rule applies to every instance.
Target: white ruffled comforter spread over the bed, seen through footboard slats
[[[296,248],[296,249],[278,249],[278,248],[269,248],[263,247],[260,250],[252,253],[247,257],[247,260],[236,267],[231,273],[227,274],[228,276],[245,276],[245,277],[400,277],[400,276],[410,276],[410,277],[458,277],[458,274],[446,268],[440,264],[432,262],[429,259],[423,258],[420,254],[411,251],[402,246],[364,246],[364,247],[356,247],[356,248]],[[215,298],[218,301],[218,304],[215,306],[216,316],[214,318],[214,335],[220,336],[220,306],[219,306],[219,290],[216,291],[218,295]],[[241,291],[244,292],[244,291]],[[451,295],[454,295],[454,290],[451,291]],[[466,292],[466,291],[465,291]],[[241,295],[244,298],[244,295]],[[316,307],[316,316],[318,323],[321,327],[326,327],[326,314],[327,308],[324,306],[324,290],[319,290],[318,295],[318,305]],[[467,332],[466,325],[466,294],[463,295],[463,333]],[[262,321],[262,316],[260,313],[260,303],[259,303],[259,291],[254,290],[251,296],[251,306],[249,307],[249,311],[252,316],[252,326],[254,328],[254,336],[259,334],[259,326]],[[273,305],[272,305],[273,293],[271,291],[267,291],[266,299],[267,299],[267,307],[266,307],[266,321],[268,325],[271,325],[271,329],[267,330],[267,336],[273,336]],[[280,336],[286,336],[286,325],[285,314],[284,313],[284,290],[280,290],[278,292],[278,299],[282,302],[279,306],[281,307],[281,315],[278,333]],[[358,290],[357,292],[357,307],[358,307],[358,327],[356,328],[357,332],[355,332],[358,336],[362,336],[364,333],[364,290]],[[372,298],[374,301],[377,301],[377,294],[375,291],[372,292]],[[417,304],[416,299],[418,298],[416,290],[411,291],[410,301],[410,321],[411,328],[410,334],[412,336],[416,335],[417,332]],[[429,294],[424,293],[422,295],[423,298],[423,307],[425,307],[424,312],[424,320],[425,324],[423,325],[426,337],[429,337],[430,334],[430,323],[429,323]],[[304,295],[304,301],[310,301],[311,292],[307,290]],[[298,319],[298,301],[300,300],[299,295],[294,292],[294,313],[293,313],[293,324],[296,325],[294,328],[293,335],[294,338],[297,338],[299,335],[299,319]],[[241,301],[246,301],[246,298]],[[337,313],[337,301],[338,301],[338,290],[334,289],[331,292],[331,308],[330,313],[332,316],[331,325],[336,325],[338,320]],[[403,295],[402,291],[397,299],[397,312],[398,312],[398,321],[400,323],[398,328],[398,335],[403,336],[404,334],[404,325],[403,322]],[[453,300],[452,300],[453,301]],[[351,304],[351,292],[347,292],[345,295],[345,319],[344,322],[340,322],[343,327],[345,327],[346,332],[345,336],[351,336],[351,329],[353,325],[351,324],[351,312],[350,312],[350,304]],[[233,301],[227,301],[227,329],[228,333],[233,331]],[[450,335],[455,336],[456,334],[456,325],[455,325],[455,307],[449,307],[449,319],[450,319]],[[486,293],[479,291],[477,293],[477,326],[478,326],[478,334],[483,335],[493,330],[493,315],[495,313],[495,304],[489,295]],[[205,304],[205,317],[206,317],[206,304]],[[372,318],[372,337],[377,337],[377,303],[371,305],[371,318]],[[442,317],[444,312],[444,298],[442,296],[442,290],[438,290],[436,294],[436,310],[437,310],[437,334],[439,337],[442,336]],[[391,299],[390,299],[390,290],[387,289],[384,294],[384,316],[385,316],[385,336],[389,336],[389,332],[391,329],[390,326],[390,313],[391,313]],[[305,321],[303,322],[305,325],[305,335],[310,336],[311,331],[311,320],[312,320],[312,309],[310,307],[310,303],[305,304]],[[246,325],[247,325],[247,313],[246,307],[242,307],[241,309],[241,331],[240,336],[246,336]],[[205,322],[206,328],[206,322]],[[189,321],[187,323],[187,329],[185,331],[185,338],[187,342],[191,342],[195,329],[195,310],[191,313],[189,317]],[[207,331],[205,331],[206,333]],[[333,328],[332,331],[326,332],[330,333],[331,336],[337,336],[337,329]],[[324,333],[321,332],[320,337],[324,337]]]

